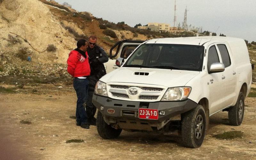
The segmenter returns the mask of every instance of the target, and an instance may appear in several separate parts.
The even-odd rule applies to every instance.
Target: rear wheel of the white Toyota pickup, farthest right
[[[236,105],[228,108],[228,121],[230,125],[238,126],[244,119],[244,94],[239,93]]]

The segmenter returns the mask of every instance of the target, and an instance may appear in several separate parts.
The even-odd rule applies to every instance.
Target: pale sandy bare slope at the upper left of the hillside
[[[20,44],[8,45],[8,35],[15,36],[10,32],[25,40]],[[76,43],[61,26],[60,21],[54,18],[49,8],[37,0],[3,0],[0,4],[0,37],[2,52],[28,47],[33,52],[30,55],[32,60],[37,62],[66,63],[68,53],[73,43]],[[45,51],[49,44],[55,45],[57,51]]]

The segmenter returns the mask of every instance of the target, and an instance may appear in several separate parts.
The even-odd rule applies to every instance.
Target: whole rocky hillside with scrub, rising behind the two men
[[[123,39],[194,36],[193,32],[157,33],[124,22],[115,24],[55,1],[0,0],[0,82],[68,83],[68,53],[76,48],[76,40],[90,35],[98,36],[107,53]]]

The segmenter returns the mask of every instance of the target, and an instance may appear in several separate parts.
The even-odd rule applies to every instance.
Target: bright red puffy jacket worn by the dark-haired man
[[[91,69],[89,65],[88,53],[86,58],[79,52],[73,50],[68,55],[68,73],[73,77],[90,76]]]

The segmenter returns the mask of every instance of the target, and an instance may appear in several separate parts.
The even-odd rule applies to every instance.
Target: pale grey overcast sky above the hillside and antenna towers
[[[149,22],[173,26],[174,0],[55,0],[67,2],[79,12],[110,22],[124,21],[131,27]],[[184,20],[187,6],[187,24],[256,42],[256,0],[176,0],[177,23]],[[176,26],[176,25],[175,25]],[[176,26],[177,27],[177,26]]]

